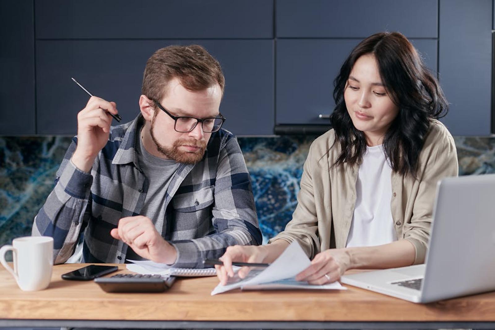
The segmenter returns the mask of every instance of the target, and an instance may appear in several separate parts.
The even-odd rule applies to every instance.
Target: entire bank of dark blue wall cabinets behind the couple
[[[151,53],[193,43],[223,67],[227,129],[315,130],[347,54],[380,31],[403,33],[438,72],[452,134],[488,135],[494,17],[494,0],[2,0],[0,135],[76,134],[88,97],[70,77],[131,120]]]

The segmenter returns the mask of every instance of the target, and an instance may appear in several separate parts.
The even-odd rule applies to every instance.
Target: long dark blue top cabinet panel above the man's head
[[[36,0],[37,39],[273,38],[273,0]]]

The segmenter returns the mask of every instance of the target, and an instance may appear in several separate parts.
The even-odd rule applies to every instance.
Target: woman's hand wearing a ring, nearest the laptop
[[[311,266],[297,274],[297,281],[309,284],[326,284],[340,280],[350,268],[350,256],[347,249],[328,249],[318,253],[311,261]]]

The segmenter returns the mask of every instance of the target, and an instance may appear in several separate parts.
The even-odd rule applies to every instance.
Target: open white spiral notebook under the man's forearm
[[[126,264],[126,267],[131,272],[138,274],[152,275],[172,275],[172,276],[215,276],[214,268],[173,268],[165,264],[159,264],[151,260],[129,260],[132,264]]]

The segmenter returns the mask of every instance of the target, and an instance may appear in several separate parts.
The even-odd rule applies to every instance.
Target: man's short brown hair
[[[156,50],[146,62],[141,93],[161,101],[168,82],[178,78],[189,91],[203,91],[210,86],[225,87],[220,63],[199,45],[168,46]]]

